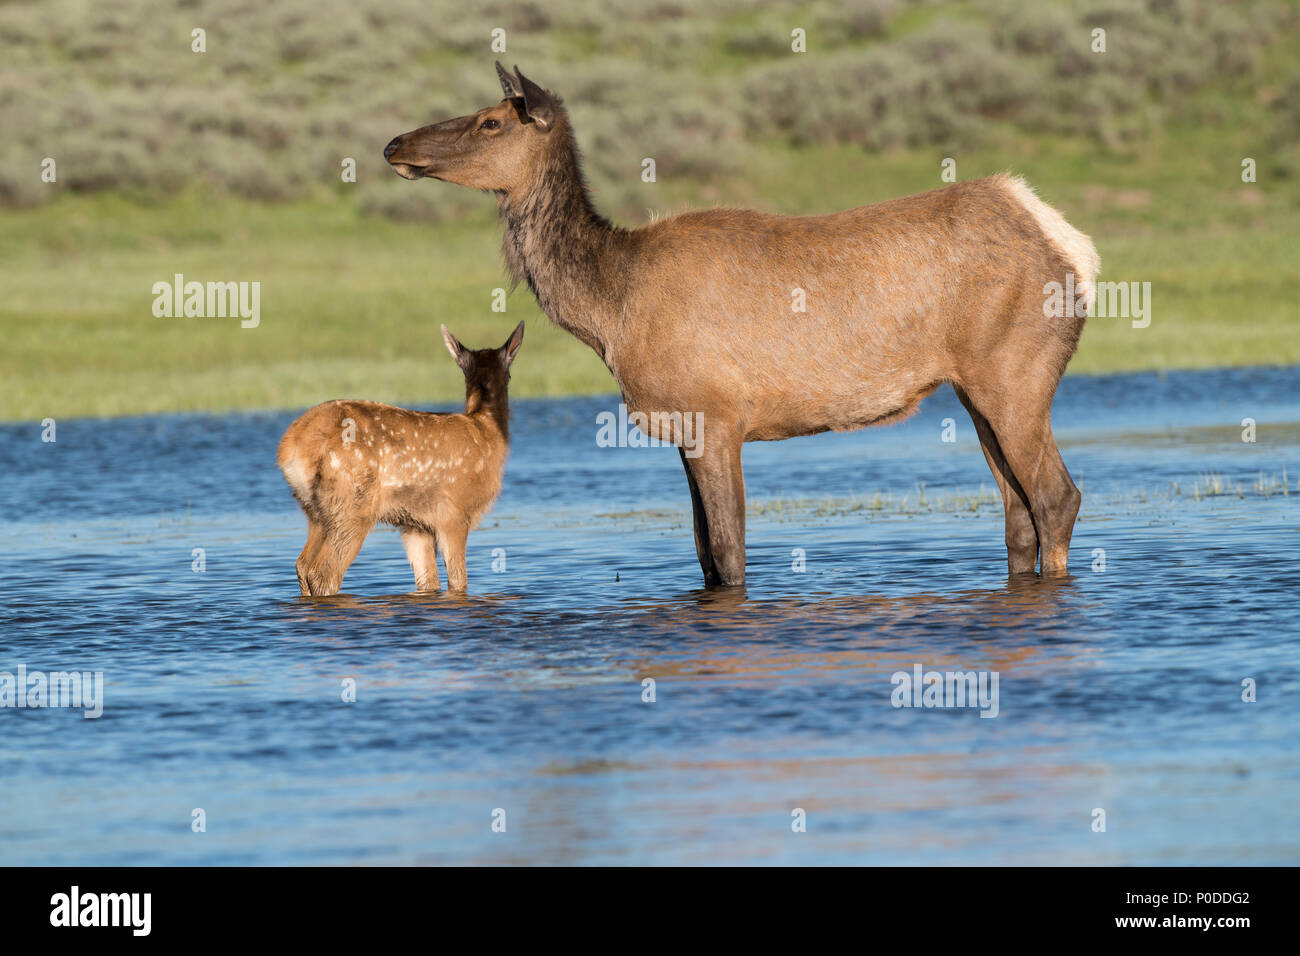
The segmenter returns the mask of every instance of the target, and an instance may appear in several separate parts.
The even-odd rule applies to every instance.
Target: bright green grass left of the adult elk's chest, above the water
[[[394,186],[400,186],[395,182]],[[0,416],[299,407],[335,397],[463,397],[442,345],[504,342],[528,319],[516,394],[608,390],[608,372],[504,286],[491,202],[477,220],[411,226],[346,198],[292,206],[186,196],[133,206],[69,198],[5,213]],[[152,284],[261,282],[261,320],[159,319]]]

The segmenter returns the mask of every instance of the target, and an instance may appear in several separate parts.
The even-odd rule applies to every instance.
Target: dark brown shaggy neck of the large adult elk
[[[568,122],[556,124],[541,176],[499,196],[506,265],[526,282],[551,321],[604,356],[610,323],[621,311],[619,241],[592,204]]]

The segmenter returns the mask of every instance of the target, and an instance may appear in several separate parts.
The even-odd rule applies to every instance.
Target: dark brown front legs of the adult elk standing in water
[[[707,587],[745,583],[745,475],[738,437],[710,436],[699,457],[681,453],[696,511],[696,551]]]

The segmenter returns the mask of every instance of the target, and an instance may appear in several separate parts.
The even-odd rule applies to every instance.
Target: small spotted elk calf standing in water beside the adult
[[[510,365],[524,323],[500,349],[465,349],[442,326],[465,373],[465,411],[421,412],[334,401],[308,410],[280,442],[280,470],[307,512],[303,594],[335,594],[377,522],[402,531],[417,591],[464,591],[465,538],[500,493],[510,446]]]

